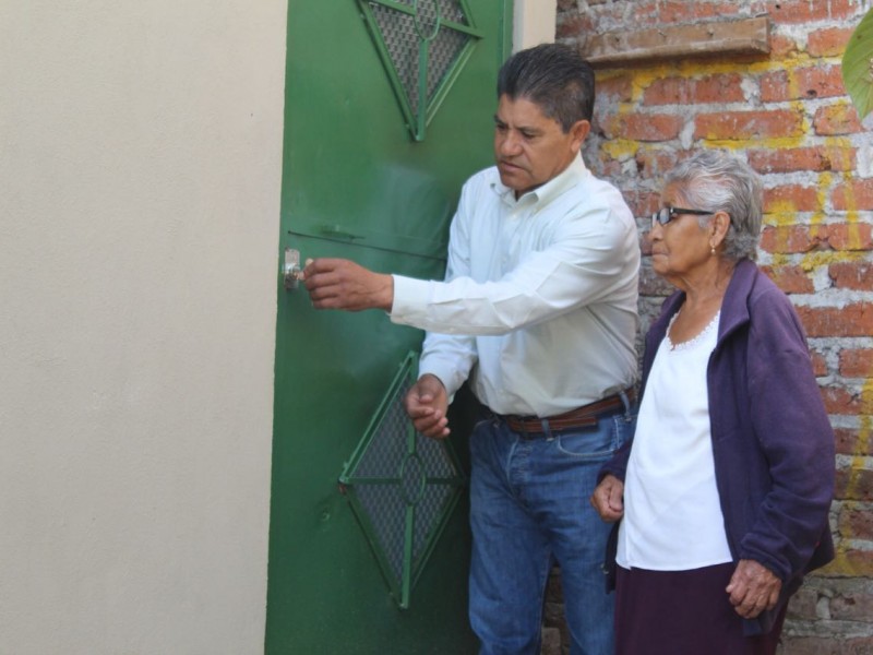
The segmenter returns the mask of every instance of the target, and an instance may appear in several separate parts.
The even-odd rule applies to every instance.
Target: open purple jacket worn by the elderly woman
[[[667,298],[646,335],[641,397],[684,299],[682,291]],[[828,512],[835,452],[800,320],[752,261],[739,262],[728,285],[706,379],[716,486],[731,555],[734,562],[761,562],[782,581],[777,607],[744,621],[745,634],[760,634],[769,631],[803,574],[834,559]],[[624,479],[631,445],[600,477],[611,473]],[[611,570],[617,535],[618,524],[608,552]]]

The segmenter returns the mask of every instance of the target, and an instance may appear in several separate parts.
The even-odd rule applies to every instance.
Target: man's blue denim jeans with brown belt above
[[[469,614],[480,655],[538,655],[546,582],[561,585],[571,655],[613,653],[603,557],[611,525],[588,498],[600,466],[633,434],[630,412],[596,427],[526,437],[499,418],[470,437]]]

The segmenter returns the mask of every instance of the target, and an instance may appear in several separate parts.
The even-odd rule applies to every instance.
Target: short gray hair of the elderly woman
[[[762,188],[757,174],[743,160],[718,151],[702,151],[678,164],[665,179],[693,209],[727,212],[729,229],[723,257],[733,261],[757,258],[761,237]],[[701,216],[701,227],[711,221]]]

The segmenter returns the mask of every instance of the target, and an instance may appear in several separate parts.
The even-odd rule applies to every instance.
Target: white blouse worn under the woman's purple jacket
[[[624,481],[617,561],[625,569],[685,571],[731,561],[706,383],[718,318],[677,345],[668,330],[655,356]]]

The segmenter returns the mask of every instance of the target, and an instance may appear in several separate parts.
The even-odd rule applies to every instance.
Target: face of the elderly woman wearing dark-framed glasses
[[[661,193],[661,207],[699,210],[689,205],[675,184],[668,186]],[[710,231],[699,226],[701,218],[675,214],[667,225],[654,222],[647,238],[651,243],[651,269],[658,275],[671,282],[686,278],[709,261]]]

